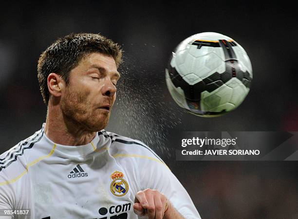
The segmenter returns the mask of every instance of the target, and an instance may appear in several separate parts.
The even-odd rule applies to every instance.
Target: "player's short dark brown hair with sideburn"
[[[43,102],[48,105],[50,92],[47,78],[50,73],[62,76],[66,84],[69,83],[69,75],[83,57],[91,53],[111,55],[117,68],[122,63],[122,50],[117,43],[100,34],[70,34],[57,39],[39,57],[37,65],[37,77]]]

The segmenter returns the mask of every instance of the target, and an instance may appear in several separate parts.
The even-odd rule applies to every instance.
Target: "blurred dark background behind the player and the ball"
[[[154,148],[203,219],[298,218],[297,162],[178,162],[167,145],[173,129],[298,131],[296,14],[285,1],[1,3],[0,153],[45,122],[37,82],[42,51],[70,33],[101,33],[125,51],[106,130]],[[218,118],[186,113],[165,83],[172,50],[201,32],[232,37],[253,66],[251,90],[242,105]]]

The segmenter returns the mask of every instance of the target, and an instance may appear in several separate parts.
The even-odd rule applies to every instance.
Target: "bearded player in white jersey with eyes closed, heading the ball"
[[[41,54],[46,123],[0,156],[0,209],[30,209],[36,219],[200,218],[148,146],[104,130],[121,56],[99,34],[60,38]]]

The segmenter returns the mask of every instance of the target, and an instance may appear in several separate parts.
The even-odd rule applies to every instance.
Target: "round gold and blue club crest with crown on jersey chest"
[[[124,174],[119,171],[115,171],[111,175],[112,183],[110,189],[115,196],[124,196],[128,192],[129,186],[123,177]]]

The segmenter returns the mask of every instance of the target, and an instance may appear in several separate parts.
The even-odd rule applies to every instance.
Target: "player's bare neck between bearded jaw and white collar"
[[[90,143],[96,132],[86,130],[71,119],[63,116],[59,105],[49,104],[45,134],[59,145],[79,146]]]

